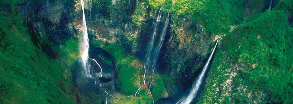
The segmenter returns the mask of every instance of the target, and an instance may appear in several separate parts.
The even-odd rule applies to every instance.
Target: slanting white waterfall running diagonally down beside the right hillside
[[[179,102],[177,102],[176,104],[190,104],[190,102],[192,102],[193,99],[196,97],[197,92],[200,90],[200,86],[201,86],[202,82],[204,81],[204,75],[206,74],[206,71],[208,70],[208,65],[211,64],[211,62],[212,62],[211,59],[215,55],[215,50],[217,48],[218,42],[219,42],[219,39],[217,40],[217,43],[212,51],[212,54],[208,58],[208,62],[204,65],[204,68],[202,69],[201,74],[199,75],[198,79],[193,82],[192,88],[189,91],[188,96],[180,99]]]

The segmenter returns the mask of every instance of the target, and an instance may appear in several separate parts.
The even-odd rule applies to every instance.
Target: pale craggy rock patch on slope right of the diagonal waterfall
[[[220,44],[220,49],[217,51],[224,52],[225,47]],[[269,91],[263,88],[248,86],[246,79],[240,77],[242,72],[252,71],[253,68],[248,64],[234,63],[228,56],[224,56],[221,59],[225,64],[220,64],[215,70],[210,70],[207,74],[206,82],[203,85],[201,94],[197,99],[197,102],[208,101],[207,103],[241,103],[241,104],[258,104],[258,103],[270,103]],[[227,67],[229,66],[229,67]],[[222,70],[224,69],[224,70]],[[208,86],[212,86],[209,88]],[[210,100],[206,100],[207,94],[211,93]],[[214,96],[215,95],[215,96]]]

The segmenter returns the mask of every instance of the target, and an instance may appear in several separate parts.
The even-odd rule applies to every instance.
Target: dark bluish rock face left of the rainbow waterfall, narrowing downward
[[[29,0],[21,5],[19,14],[23,16],[25,25],[27,25],[30,31],[35,46],[42,48],[46,54],[60,60],[67,66],[61,75],[64,80],[72,84],[72,88],[63,86],[62,82],[58,83],[59,87],[62,88],[63,92],[69,95],[74,102],[86,103],[85,97],[81,95],[79,89],[74,84],[74,80],[71,76],[72,69],[69,67],[69,63],[64,62],[64,60],[58,56],[58,53],[52,50],[52,45],[50,45],[50,42],[60,45],[64,42],[63,39],[70,39],[78,36],[78,31],[72,28],[74,25],[71,23],[72,18],[74,18],[76,14],[76,11],[74,11],[76,3],[77,0]],[[80,25],[78,27],[80,27]]]

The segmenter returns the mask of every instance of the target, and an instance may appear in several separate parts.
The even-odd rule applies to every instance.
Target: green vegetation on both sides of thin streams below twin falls
[[[101,41],[96,41],[94,44],[103,44]],[[140,87],[141,76],[139,74],[140,69],[143,67],[142,63],[138,58],[135,58],[132,55],[127,55],[122,50],[123,46],[117,46],[110,43],[105,43],[102,47],[103,50],[107,51],[111,56],[115,59],[115,66],[116,71],[118,73],[118,79],[116,80],[117,87],[120,90],[121,94],[125,94],[127,96],[135,95],[137,89]],[[150,76],[148,76],[150,78]],[[152,91],[154,96],[154,101],[157,102],[161,98],[168,97],[167,90],[165,88],[164,82],[162,78],[158,75],[154,75],[154,89]],[[147,90],[147,84],[145,84],[146,92],[144,90],[141,90],[139,93],[139,98],[132,98],[132,97],[126,97],[126,98],[117,98],[117,101],[115,103],[123,101],[124,103],[134,103],[134,102],[140,102],[142,104],[148,104],[148,100],[144,101],[141,99],[146,99],[147,96],[150,96],[150,94],[144,94],[149,93]],[[149,98],[148,98],[149,99]],[[152,101],[152,99],[150,99]]]

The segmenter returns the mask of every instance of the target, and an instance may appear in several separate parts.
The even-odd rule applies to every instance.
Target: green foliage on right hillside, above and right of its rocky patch
[[[238,26],[223,39],[233,60],[255,68],[243,70],[250,84],[271,91],[276,102],[292,103],[292,35],[285,13],[270,11]]]

